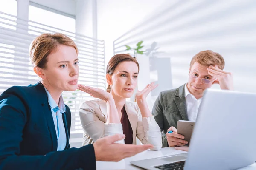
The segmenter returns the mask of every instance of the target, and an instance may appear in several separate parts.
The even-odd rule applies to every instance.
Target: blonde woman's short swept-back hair
[[[73,40],[61,33],[49,34],[44,33],[39,35],[32,41],[29,55],[30,60],[34,66],[39,68],[46,68],[47,56],[56,48],[58,45],[67,45],[74,47],[76,49],[76,54],[78,54],[78,49]]]

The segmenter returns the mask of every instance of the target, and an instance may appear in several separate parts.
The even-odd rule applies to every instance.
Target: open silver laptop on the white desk
[[[147,170],[233,170],[256,160],[256,94],[207,89],[189,152],[130,163]]]

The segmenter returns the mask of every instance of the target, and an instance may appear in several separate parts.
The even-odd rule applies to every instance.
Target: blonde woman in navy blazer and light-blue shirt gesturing
[[[116,144],[124,135],[70,148],[71,113],[61,93],[75,91],[78,49],[64,34],[41,34],[31,62],[40,81],[13,86],[0,96],[0,170],[96,169],[96,161],[119,161],[152,147]]]

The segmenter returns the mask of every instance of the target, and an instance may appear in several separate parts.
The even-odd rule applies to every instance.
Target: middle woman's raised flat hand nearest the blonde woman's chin
[[[93,88],[90,86],[85,86],[85,85],[78,85],[78,88],[81,91],[84,91],[85,93],[90,94],[90,96],[99,98],[104,100],[105,102],[108,102],[108,100],[113,99],[113,96],[111,93],[104,91],[102,89],[99,88]]]

